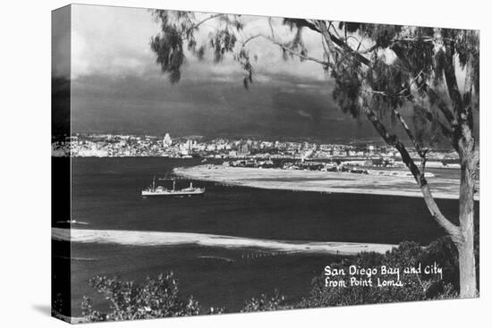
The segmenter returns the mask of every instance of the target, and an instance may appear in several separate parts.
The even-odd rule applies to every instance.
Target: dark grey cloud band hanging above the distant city
[[[108,78],[72,83],[72,129],[174,136],[353,139],[374,136],[367,124],[344,116],[331,83],[273,76],[249,89],[242,80]],[[305,86],[310,86],[305,88]],[[285,91],[288,90],[288,91]]]

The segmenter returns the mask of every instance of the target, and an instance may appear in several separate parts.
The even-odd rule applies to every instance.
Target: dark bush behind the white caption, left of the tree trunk
[[[477,253],[478,255],[478,253]],[[361,253],[356,257],[344,259],[331,265],[343,268],[348,265],[360,267],[406,267],[433,265],[437,263],[443,269],[443,279],[436,276],[418,275],[415,273],[402,276],[403,287],[326,287],[325,277],[318,276],[311,283],[310,295],[301,300],[296,307],[331,307],[387,302],[403,302],[425,299],[455,299],[459,291],[458,252],[453,241],[444,237],[422,248],[414,242],[405,241],[386,255]],[[477,272],[479,271],[477,259]],[[378,273],[374,276],[384,279]]]

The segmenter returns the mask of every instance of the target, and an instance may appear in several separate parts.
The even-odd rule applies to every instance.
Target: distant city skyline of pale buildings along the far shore
[[[124,134],[76,134],[66,139],[52,141],[53,156],[124,157],[163,156],[173,158],[253,158],[253,159],[310,159],[335,158],[399,158],[394,147],[375,142],[319,143],[293,139],[202,139],[199,136],[172,138],[165,136]],[[418,154],[410,152],[418,158]],[[428,158],[455,160],[453,151],[434,150]]]

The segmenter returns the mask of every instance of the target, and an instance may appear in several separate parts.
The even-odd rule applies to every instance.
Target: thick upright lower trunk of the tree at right
[[[462,298],[474,298],[477,296],[475,251],[473,248],[473,194],[475,192],[473,172],[475,172],[477,165],[474,156],[474,152],[471,152],[462,160],[460,186],[460,230],[462,232],[462,242],[456,244],[460,260],[460,296]]]

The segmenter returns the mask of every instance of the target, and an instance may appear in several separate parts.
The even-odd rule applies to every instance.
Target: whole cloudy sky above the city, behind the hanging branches
[[[197,13],[197,18],[208,17]],[[242,16],[244,40],[270,34],[266,17]],[[182,79],[171,84],[158,67],[150,39],[159,31],[146,9],[72,5],[71,32],[54,28],[53,75],[72,81],[72,131],[202,135],[267,139],[347,141],[377,139],[369,123],[342,114],[332,97],[334,82],[318,63],[283,60],[265,39],[250,42],[254,82],[242,86],[242,70],[226,56],[213,63],[211,51],[199,61],[187,53]],[[281,19],[272,25],[276,38],[293,33]],[[55,21],[54,21],[54,26]],[[200,25],[198,41],[207,40],[217,21]],[[71,55],[67,56],[66,39]],[[305,30],[309,55],[322,59],[319,35]],[[70,61],[63,60],[70,58]]]

